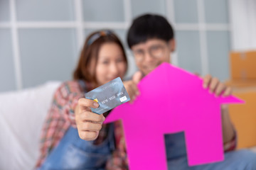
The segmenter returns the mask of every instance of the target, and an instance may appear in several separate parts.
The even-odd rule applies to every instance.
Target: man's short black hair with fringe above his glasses
[[[174,38],[174,30],[166,18],[149,13],[135,18],[127,34],[129,48],[153,38],[166,42]]]

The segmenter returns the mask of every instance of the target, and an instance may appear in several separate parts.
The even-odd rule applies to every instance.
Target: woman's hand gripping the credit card
[[[90,108],[98,108],[99,103],[87,98],[80,98],[75,108],[75,123],[82,140],[95,140],[105,120],[103,114],[92,113]]]

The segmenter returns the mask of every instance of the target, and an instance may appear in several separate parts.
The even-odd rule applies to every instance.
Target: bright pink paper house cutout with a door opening
[[[171,64],[154,69],[138,84],[141,95],[107,116],[122,119],[130,170],[166,170],[164,134],[185,132],[190,166],[224,159],[220,105],[242,103],[215,97],[203,80]]]

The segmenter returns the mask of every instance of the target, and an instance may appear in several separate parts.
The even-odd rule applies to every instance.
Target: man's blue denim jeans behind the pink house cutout
[[[212,164],[188,166],[184,133],[165,135],[169,170],[256,170],[256,153],[241,149],[225,153],[225,160]]]

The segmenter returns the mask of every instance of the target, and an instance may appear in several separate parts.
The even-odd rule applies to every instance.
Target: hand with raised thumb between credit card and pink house
[[[129,97],[131,98],[129,103],[133,103],[134,100],[137,98],[137,96],[139,96],[139,89],[137,87],[137,84],[141,79],[142,79],[142,73],[136,72],[132,77],[132,80],[124,81],[124,87],[127,90]]]

